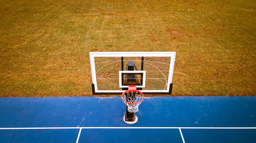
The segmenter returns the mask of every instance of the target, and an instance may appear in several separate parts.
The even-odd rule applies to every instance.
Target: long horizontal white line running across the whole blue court
[[[256,129],[256,127],[28,127],[28,128],[0,128],[0,130],[28,130],[28,129]]]

